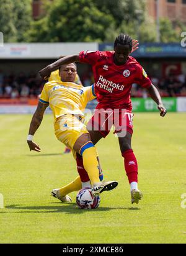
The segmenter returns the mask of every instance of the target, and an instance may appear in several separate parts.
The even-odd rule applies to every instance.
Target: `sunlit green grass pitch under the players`
[[[71,154],[53,132],[46,114],[35,134],[42,152],[26,143],[31,115],[0,116],[0,243],[185,243],[186,114],[135,113],[133,150],[144,198],[130,203],[118,139],[110,132],[97,144],[105,180],[118,187],[101,194],[100,206],[80,210],[50,196],[77,176]]]

